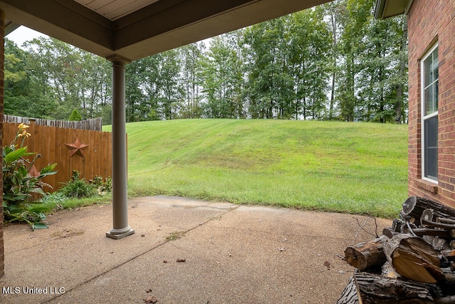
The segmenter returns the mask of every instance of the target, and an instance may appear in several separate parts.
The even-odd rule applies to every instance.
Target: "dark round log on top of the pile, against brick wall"
[[[455,219],[455,209],[419,196],[410,196],[402,206],[403,214],[417,219],[422,216],[425,209],[433,209],[433,211],[437,211],[439,214],[444,214],[441,217]]]

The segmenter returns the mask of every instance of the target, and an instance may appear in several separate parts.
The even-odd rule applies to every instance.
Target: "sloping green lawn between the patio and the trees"
[[[128,123],[127,133],[130,196],[384,217],[407,197],[405,125],[171,120]]]

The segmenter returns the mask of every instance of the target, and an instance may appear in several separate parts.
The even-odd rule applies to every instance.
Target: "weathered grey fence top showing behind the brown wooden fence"
[[[68,120],[45,120],[43,118],[28,118],[20,117],[13,115],[3,115],[4,122],[17,122],[25,123],[29,125],[31,122],[34,122],[35,125],[47,125],[48,127],[69,127],[71,129],[80,129],[80,130],[93,130],[101,131],[102,130],[102,118],[92,118],[90,120],[81,120],[81,121],[68,121]]]

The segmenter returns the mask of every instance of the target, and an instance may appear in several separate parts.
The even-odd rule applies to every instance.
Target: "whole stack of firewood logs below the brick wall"
[[[392,227],[344,259],[356,269],[336,304],[455,303],[455,209],[411,196]]]

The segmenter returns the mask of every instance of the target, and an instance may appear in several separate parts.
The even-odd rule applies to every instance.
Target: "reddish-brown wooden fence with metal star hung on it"
[[[16,137],[18,123],[3,122],[4,145]],[[103,179],[112,176],[112,133],[77,130],[62,127],[47,127],[31,124],[27,131],[31,134],[26,138],[24,146],[28,152],[38,152],[41,157],[35,162],[36,169],[57,163],[57,174],[43,179],[53,189],[62,187],[73,176],[73,170],[80,172],[80,177],[93,179],[100,176]],[[18,145],[21,143],[17,142]],[[30,157],[30,160],[33,157]]]

